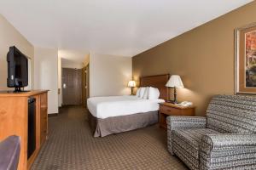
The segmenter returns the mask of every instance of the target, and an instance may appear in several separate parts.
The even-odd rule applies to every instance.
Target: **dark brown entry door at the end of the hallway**
[[[62,68],[62,105],[82,105],[81,69]]]

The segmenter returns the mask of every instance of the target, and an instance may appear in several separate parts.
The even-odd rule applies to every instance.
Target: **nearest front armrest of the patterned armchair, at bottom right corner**
[[[256,168],[256,134],[207,134],[201,139],[200,168]]]

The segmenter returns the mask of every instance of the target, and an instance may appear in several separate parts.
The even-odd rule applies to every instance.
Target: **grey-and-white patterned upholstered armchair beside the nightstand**
[[[168,116],[167,143],[190,169],[256,169],[256,98],[217,95],[207,116]]]

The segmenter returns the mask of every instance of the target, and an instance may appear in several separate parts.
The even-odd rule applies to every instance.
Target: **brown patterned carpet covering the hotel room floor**
[[[49,139],[32,170],[51,169],[187,169],[166,149],[166,131],[157,125],[93,138],[81,106],[49,117]]]

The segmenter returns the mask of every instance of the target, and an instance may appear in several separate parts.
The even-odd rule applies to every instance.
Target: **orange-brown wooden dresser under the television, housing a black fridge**
[[[20,136],[19,170],[30,169],[38,151],[48,134],[48,91],[13,93],[0,91],[0,140],[10,135]],[[33,133],[35,135],[35,150],[27,159],[28,143],[28,99],[35,99],[35,114]]]

